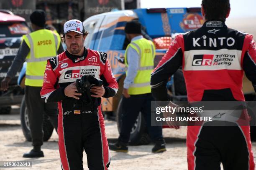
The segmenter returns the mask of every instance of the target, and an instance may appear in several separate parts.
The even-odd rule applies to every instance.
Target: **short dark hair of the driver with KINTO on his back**
[[[205,20],[226,20],[230,9],[229,0],[202,0],[205,10]]]

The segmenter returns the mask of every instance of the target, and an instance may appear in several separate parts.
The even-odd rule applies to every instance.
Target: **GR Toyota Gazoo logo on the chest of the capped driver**
[[[92,75],[95,77],[97,73],[97,69],[81,69],[80,70],[68,70],[65,72],[64,79],[69,79],[69,78],[79,78],[82,77],[83,75]]]

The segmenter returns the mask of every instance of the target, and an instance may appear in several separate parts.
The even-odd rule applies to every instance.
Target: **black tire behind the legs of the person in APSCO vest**
[[[25,102],[25,95],[20,105],[20,124],[21,124],[23,135],[25,136],[26,140],[31,142],[32,138],[31,138],[29,122],[28,122],[28,113],[27,113],[27,107]],[[47,141],[51,138],[53,130],[54,130],[54,127],[51,125],[51,122],[48,116],[44,115],[44,120],[43,120],[44,141]]]

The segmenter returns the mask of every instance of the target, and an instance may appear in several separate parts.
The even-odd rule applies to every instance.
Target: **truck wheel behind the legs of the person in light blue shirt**
[[[122,101],[123,101],[123,98],[121,98],[118,104],[118,109],[117,109],[118,112],[116,117],[119,133],[122,126],[122,117],[123,117]],[[129,144],[130,145],[148,145],[150,142],[151,140],[147,133],[146,122],[140,112],[131,130]]]

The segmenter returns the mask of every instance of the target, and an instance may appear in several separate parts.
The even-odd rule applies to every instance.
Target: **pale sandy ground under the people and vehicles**
[[[22,158],[23,153],[31,150],[31,143],[23,136],[18,107],[10,115],[0,115],[0,161],[32,161],[32,168],[2,168],[3,170],[60,170],[58,136],[53,133],[51,139],[42,146],[44,158]],[[118,138],[115,121],[105,121],[108,141]],[[167,151],[153,154],[153,145],[130,146],[128,153],[110,151],[110,170],[187,170],[186,127],[179,130],[164,129]],[[256,143],[253,143],[256,155]],[[254,157],[255,158],[255,157]],[[256,159],[254,159],[256,160]],[[83,157],[84,169],[87,159]],[[1,168],[0,168],[1,169]]]

